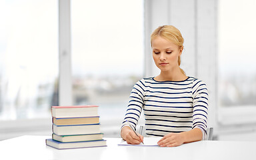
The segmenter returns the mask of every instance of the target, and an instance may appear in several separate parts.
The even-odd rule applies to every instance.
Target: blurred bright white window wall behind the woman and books
[[[120,137],[133,85],[159,74],[150,34],[174,25],[185,39],[181,68],[207,83],[213,138],[256,141],[255,8],[256,0],[0,0],[0,140],[51,135],[52,105],[99,105],[104,137]],[[60,84],[62,75],[70,81]]]

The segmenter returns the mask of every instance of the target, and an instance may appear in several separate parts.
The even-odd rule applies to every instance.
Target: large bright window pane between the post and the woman
[[[143,75],[143,1],[71,1],[71,28],[74,103],[99,105],[102,126],[119,129]]]

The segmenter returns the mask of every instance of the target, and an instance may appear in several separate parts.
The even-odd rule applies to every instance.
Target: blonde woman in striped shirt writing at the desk
[[[138,137],[131,129],[135,129],[142,109],[146,134],[163,137],[158,142],[160,147],[175,147],[205,139],[207,87],[203,81],[187,77],[179,67],[183,41],[180,31],[171,25],[158,27],[151,34],[153,59],[161,73],[141,79],[131,91],[121,127],[121,137],[127,143],[143,141],[143,136]]]

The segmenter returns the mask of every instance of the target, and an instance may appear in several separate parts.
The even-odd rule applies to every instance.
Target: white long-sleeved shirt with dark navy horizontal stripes
[[[134,127],[142,109],[145,133],[149,137],[164,136],[198,128],[206,137],[208,92],[203,81],[188,77],[184,81],[155,81],[153,77],[138,81],[130,95],[126,120]]]

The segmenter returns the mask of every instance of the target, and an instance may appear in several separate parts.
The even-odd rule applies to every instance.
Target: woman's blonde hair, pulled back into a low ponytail
[[[181,32],[173,25],[163,25],[155,29],[155,31],[153,31],[151,34],[151,46],[153,39],[155,39],[157,36],[163,37],[168,41],[175,43],[179,49],[183,49],[184,47],[184,39],[181,35]],[[179,56],[178,64],[181,65],[181,56]],[[181,72],[185,75],[185,71],[183,71],[183,69],[181,69]]]

